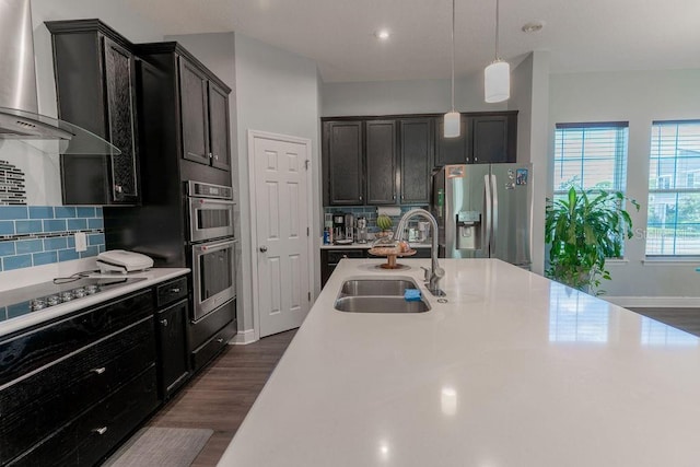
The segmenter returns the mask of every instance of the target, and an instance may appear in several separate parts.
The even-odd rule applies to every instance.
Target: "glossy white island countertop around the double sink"
[[[700,465],[696,337],[495,259],[441,259],[448,303],[342,313],[343,259],[220,466]]]

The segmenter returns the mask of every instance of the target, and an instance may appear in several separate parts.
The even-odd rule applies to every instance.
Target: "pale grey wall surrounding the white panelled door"
[[[269,46],[250,37],[236,34],[236,101],[238,132],[238,186],[241,192],[241,223],[244,232],[242,290],[243,314],[238,313],[238,328],[253,328],[252,255],[249,224],[253,222],[246,207],[250,203],[248,183],[247,131],[260,130],[307,138],[312,142],[312,187],[314,206],[312,232],[320,221],[320,152],[319,152],[319,92],[316,63],[302,56]],[[319,276],[319,237],[314,235],[314,277]],[[314,287],[318,293],[319,284]]]

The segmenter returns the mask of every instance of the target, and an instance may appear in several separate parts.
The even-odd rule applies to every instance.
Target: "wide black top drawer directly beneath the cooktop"
[[[153,314],[151,290],[0,340],[0,387]]]

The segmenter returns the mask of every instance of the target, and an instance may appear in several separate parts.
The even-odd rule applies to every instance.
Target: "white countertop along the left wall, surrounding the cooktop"
[[[27,313],[26,315],[16,316],[7,320],[0,322],[0,337],[5,336],[11,332],[15,332],[18,330],[48,322],[50,319],[67,315],[69,313],[75,312],[81,308],[89,307],[91,305],[95,305],[102,302],[106,302],[108,300],[118,297],[120,295],[125,295],[127,293],[145,289],[159,282],[164,282],[168,279],[174,279],[176,277],[183,276],[189,272],[187,268],[153,268],[145,271],[139,272],[130,272],[129,275],[100,275],[93,273],[90,275],[91,278],[144,278],[142,281],[128,283],[119,288],[110,289],[104,292],[100,292],[95,295],[84,296],[79,300],[73,300],[70,302],[61,303],[55,306],[50,306],[48,308],[42,310],[39,312]],[[42,278],[37,283],[44,282],[46,278]],[[48,279],[50,281],[50,279]],[[0,297],[2,297],[2,302],[10,301],[12,290],[0,291]]]

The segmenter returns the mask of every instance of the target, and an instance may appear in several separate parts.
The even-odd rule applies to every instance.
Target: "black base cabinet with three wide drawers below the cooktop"
[[[0,339],[0,464],[94,465],[159,405],[153,292]]]

